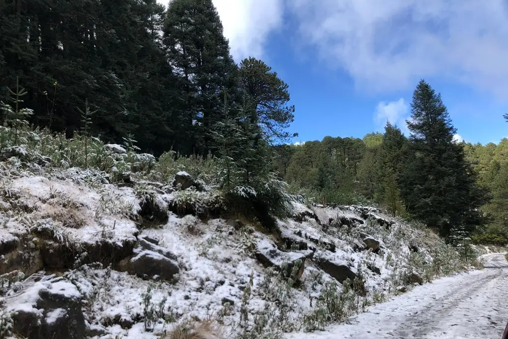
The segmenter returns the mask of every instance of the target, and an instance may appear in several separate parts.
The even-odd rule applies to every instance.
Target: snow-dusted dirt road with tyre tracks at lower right
[[[500,339],[508,321],[508,263],[485,257],[485,269],[419,286],[326,332],[291,339]]]

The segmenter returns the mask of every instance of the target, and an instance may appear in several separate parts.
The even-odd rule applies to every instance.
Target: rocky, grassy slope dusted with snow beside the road
[[[1,152],[0,337],[176,338],[198,326],[278,338],[481,266],[473,248],[459,254],[375,207],[293,197],[267,229],[227,205],[210,160],[37,130],[21,140]],[[85,149],[101,169],[77,167]]]

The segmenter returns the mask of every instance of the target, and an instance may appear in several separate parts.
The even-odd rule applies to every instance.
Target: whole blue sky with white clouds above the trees
[[[167,0],[165,0],[167,3]],[[294,142],[408,135],[425,79],[457,140],[508,136],[508,0],[213,0],[237,62],[265,61],[289,85]]]

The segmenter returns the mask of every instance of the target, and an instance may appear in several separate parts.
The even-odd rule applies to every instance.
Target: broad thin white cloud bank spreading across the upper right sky
[[[356,86],[407,89],[445,76],[508,99],[504,0],[291,0],[304,43]]]

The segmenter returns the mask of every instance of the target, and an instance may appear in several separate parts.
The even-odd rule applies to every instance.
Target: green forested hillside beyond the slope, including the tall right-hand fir
[[[363,139],[278,146],[274,163],[294,193],[315,202],[370,201],[443,236],[465,232],[477,242],[505,244],[506,140],[499,146],[457,143],[446,106],[423,80],[407,124],[408,137],[388,122],[384,133]]]

